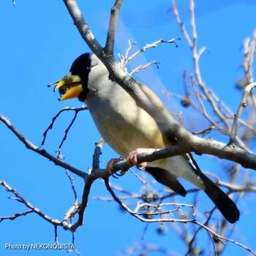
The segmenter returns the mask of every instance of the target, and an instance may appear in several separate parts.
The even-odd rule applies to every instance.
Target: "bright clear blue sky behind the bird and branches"
[[[105,43],[108,17],[113,1],[78,1],[86,21],[95,36]],[[177,1],[181,19],[189,29],[189,3]],[[241,92],[234,84],[243,76],[243,46],[246,37],[252,37],[256,28],[255,0],[247,1],[196,1],[195,15],[197,23],[198,47],[207,47],[200,61],[203,80],[208,87],[232,109],[236,111],[241,99]],[[42,142],[42,133],[50,124],[51,118],[61,108],[80,107],[78,100],[72,99],[59,102],[59,94],[48,88],[69,71],[72,61],[89,48],[83,42],[78,30],[72,23],[62,1],[16,1],[12,7],[11,0],[0,4],[0,112],[7,116],[32,143],[37,146]],[[141,71],[136,78],[146,83],[159,97],[163,88],[173,93],[182,94],[182,73],[192,72],[192,59],[189,47],[170,12],[170,1],[124,1],[117,30],[116,54],[125,53],[128,39],[138,42],[138,47],[158,39],[181,37],[178,48],[175,45],[159,45],[143,53],[129,68],[146,61],[160,61],[160,69],[151,67]],[[230,97],[232,95],[232,97]],[[166,102],[170,110],[180,109],[178,101]],[[187,111],[187,113],[186,113]],[[188,118],[193,113],[184,110]],[[200,127],[195,120],[193,127]],[[45,149],[56,154],[64,131],[72,120],[72,113],[64,113],[56,121],[49,132]],[[190,119],[189,119],[190,120]],[[197,121],[198,120],[198,121]],[[189,127],[188,127],[189,128]],[[191,128],[191,127],[190,127]],[[97,129],[87,111],[78,116],[72,127],[68,140],[64,143],[65,161],[80,170],[87,170],[91,165],[94,142],[99,139]],[[225,141],[225,140],[224,140]],[[226,141],[227,142],[227,141]],[[252,146],[255,148],[255,146]],[[73,194],[69,180],[60,167],[56,167],[47,159],[27,151],[20,141],[3,125],[0,124],[0,180],[7,181],[12,188],[20,192],[34,206],[50,217],[61,219],[72,205]],[[117,157],[108,146],[103,150],[101,165],[105,166],[108,159]],[[216,170],[206,157],[197,157],[203,170],[211,170],[222,178],[223,170]],[[253,171],[252,178],[253,176]],[[241,173],[241,175],[243,175]],[[141,184],[129,173],[118,180],[111,179],[113,184],[124,186],[132,192],[140,192]],[[75,186],[80,198],[83,182],[75,177]],[[135,186],[136,187],[133,187]],[[189,185],[188,185],[189,186]],[[203,194],[203,193],[201,193]],[[10,196],[0,187],[0,216],[8,216],[25,211],[20,203],[7,198]],[[145,223],[119,211],[116,203],[94,200],[93,197],[110,197],[101,181],[95,182],[91,189],[89,207],[83,227],[75,233],[75,244],[81,255],[118,255],[118,252],[129,248],[135,243],[149,243],[164,246],[181,255],[184,251],[179,239],[174,240],[173,230],[168,228],[164,236],[158,236],[157,225],[149,225],[144,241],[141,241],[146,227]],[[231,237],[256,250],[252,232],[255,223],[255,195],[249,194],[238,203],[241,219]],[[177,197],[179,202],[186,203],[186,198]],[[202,200],[208,199],[202,195]],[[200,203],[203,205],[204,201]],[[200,206],[199,206],[200,207]],[[254,215],[253,215],[254,214]],[[202,233],[206,236],[206,233]],[[72,234],[59,228],[59,242],[70,243]],[[0,255],[64,255],[66,251],[20,251],[4,249],[4,244],[53,243],[52,225],[35,214],[20,217],[15,221],[6,220],[0,224]],[[178,252],[177,254],[174,252]],[[240,247],[230,244],[224,255],[247,255]],[[75,252],[72,252],[75,255]],[[152,253],[151,255],[158,255]]]

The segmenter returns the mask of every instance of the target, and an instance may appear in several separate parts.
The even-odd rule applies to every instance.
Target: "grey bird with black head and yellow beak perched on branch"
[[[143,83],[138,82],[138,85],[154,104],[167,109],[151,89]],[[137,166],[137,155],[141,152],[152,152],[177,143],[172,132],[160,129],[154,118],[110,79],[108,69],[94,53],[78,56],[69,73],[56,84],[54,91],[57,90],[61,101],[78,98],[84,102],[105,142]],[[192,154],[146,162],[139,167],[183,197],[187,191],[179,179],[184,178],[206,192],[228,222],[235,223],[239,219],[236,203],[200,170]]]

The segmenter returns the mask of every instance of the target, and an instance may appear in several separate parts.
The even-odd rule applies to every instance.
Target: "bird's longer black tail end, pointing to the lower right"
[[[228,197],[227,194],[222,191],[222,189],[219,189],[219,187],[206,175],[200,173],[200,178],[203,180],[203,184],[206,186],[206,189],[204,190],[206,195],[211,198],[222,215],[227,219],[228,222],[236,222],[240,216],[236,203],[234,203],[233,200],[231,200],[230,197]]]

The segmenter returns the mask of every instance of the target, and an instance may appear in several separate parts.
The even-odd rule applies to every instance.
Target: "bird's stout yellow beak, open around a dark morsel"
[[[83,91],[83,81],[80,79],[79,75],[72,75],[68,73],[64,78],[59,80],[59,83],[54,88],[54,91],[59,90],[62,95],[61,100],[77,98],[79,94]]]

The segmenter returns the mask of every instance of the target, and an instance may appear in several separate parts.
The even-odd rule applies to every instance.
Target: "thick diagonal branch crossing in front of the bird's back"
[[[239,162],[244,167],[256,169],[255,155],[249,154],[241,148],[231,148],[224,143],[219,143],[214,140],[210,141],[197,138],[195,135],[188,132],[187,129],[184,129],[184,127],[178,124],[178,122],[170,116],[167,109],[162,109],[158,105],[155,105],[154,102],[143,93],[140,86],[138,86],[138,83],[130,78],[127,72],[124,72],[124,70],[121,69],[113,56],[106,56],[100,45],[98,45],[99,48],[97,48],[97,44],[95,44],[97,41],[89,30],[85,20],[83,20],[82,14],[78,9],[78,5],[75,4],[75,1],[64,0],[64,2],[69,9],[69,13],[72,15],[75,24],[78,26],[78,30],[83,39],[85,39],[91,50],[94,51],[108,68],[110,77],[128,91],[137,104],[154,118],[159,125],[159,128],[162,129],[162,132],[169,133],[176,137],[180,145],[186,145],[189,148],[189,151],[195,151],[199,154],[213,154],[220,158]],[[69,4],[70,2],[72,4]],[[91,40],[91,38],[93,38],[93,40]]]

